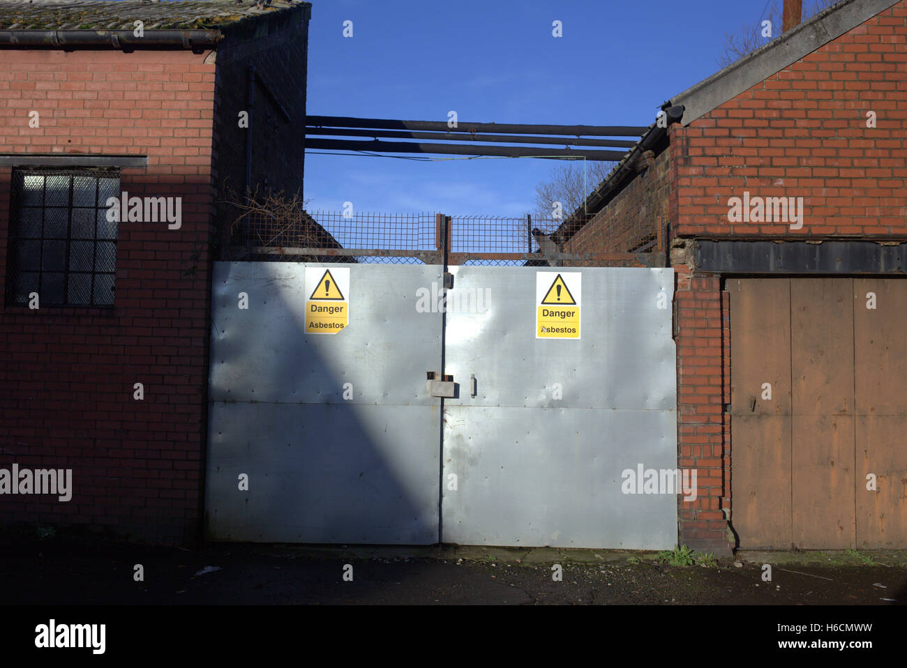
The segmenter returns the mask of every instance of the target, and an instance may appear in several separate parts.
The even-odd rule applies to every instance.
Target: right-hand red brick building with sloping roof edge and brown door
[[[907,547],[907,2],[795,19],[663,110],[561,237],[668,240],[679,543]]]

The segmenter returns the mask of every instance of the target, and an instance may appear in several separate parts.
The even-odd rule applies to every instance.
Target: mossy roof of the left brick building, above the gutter
[[[272,0],[0,0],[0,30],[205,30],[288,10],[301,2]]]

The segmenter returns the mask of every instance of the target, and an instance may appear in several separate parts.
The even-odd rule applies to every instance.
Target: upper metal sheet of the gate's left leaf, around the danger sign
[[[415,293],[440,285],[441,269],[348,265],[349,325],[307,335],[306,266],[290,262],[214,263],[210,401],[346,402],[428,405],[425,372],[440,371],[440,313],[417,313]],[[311,291],[314,286],[308,286]],[[249,295],[239,309],[238,294]]]

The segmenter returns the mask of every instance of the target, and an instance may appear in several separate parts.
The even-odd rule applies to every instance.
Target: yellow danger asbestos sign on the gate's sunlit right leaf
[[[535,338],[579,339],[581,300],[581,272],[536,272]]]

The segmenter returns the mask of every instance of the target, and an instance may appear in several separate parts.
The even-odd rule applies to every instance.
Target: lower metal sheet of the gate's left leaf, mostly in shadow
[[[430,545],[440,406],[216,402],[211,540]],[[249,475],[240,491],[239,474]]]

